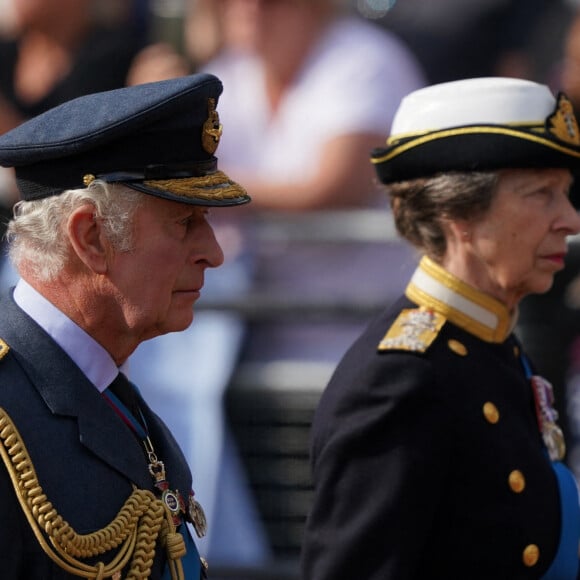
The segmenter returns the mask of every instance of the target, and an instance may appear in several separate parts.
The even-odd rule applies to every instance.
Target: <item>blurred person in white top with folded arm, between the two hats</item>
[[[203,68],[224,79],[221,115],[232,127],[221,159],[247,180],[254,209],[365,205],[376,193],[368,152],[402,96],[424,84],[397,37],[343,4],[211,2],[222,45]],[[201,20],[194,12],[190,22]]]

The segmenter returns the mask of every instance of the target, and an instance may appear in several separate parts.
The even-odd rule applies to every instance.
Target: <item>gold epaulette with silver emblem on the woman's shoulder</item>
[[[381,342],[378,350],[425,352],[437,338],[446,318],[428,308],[402,310]]]

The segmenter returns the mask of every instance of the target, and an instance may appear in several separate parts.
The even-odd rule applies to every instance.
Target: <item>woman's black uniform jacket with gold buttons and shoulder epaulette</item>
[[[322,396],[304,580],[537,579],[554,559],[558,484],[507,312],[464,292],[497,315],[486,327],[426,288],[371,323]]]

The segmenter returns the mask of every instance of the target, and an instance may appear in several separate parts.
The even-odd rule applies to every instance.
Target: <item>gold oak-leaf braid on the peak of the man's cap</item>
[[[143,185],[193,199],[233,199],[246,195],[246,190],[233,182],[223,171],[216,171],[204,177],[151,179],[144,181]]]

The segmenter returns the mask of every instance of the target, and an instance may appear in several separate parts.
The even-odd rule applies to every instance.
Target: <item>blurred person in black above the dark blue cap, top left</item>
[[[0,39],[0,133],[72,98],[122,87],[144,39],[129,25],[130,2],[11,0]],[[100,11],[99,11],[100,8]]]

